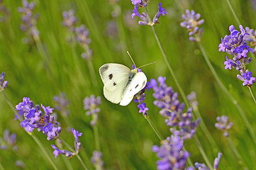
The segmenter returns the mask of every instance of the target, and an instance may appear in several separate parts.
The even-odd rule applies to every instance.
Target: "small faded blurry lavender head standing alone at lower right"
[[[228,137],[228,130],[232,128],[233,123],[228,121],[228,116],[226,115],[221,115],[221,117],[218,116],[216,120],[218,123],[215,123],[215,127],[218,130],[223,131],[223,135]]]

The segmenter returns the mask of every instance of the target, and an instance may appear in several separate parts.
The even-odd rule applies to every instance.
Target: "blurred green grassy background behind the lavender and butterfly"
[[[148,4],[148,11],[153,18],[157,13],[157,5],[160,1],[152,0]],[[255,9],[253,1],[233,0],[231,2],[240,24],[250,28],[256,28]],[[61,136],[73,147],[74,137],[67,130],[75,128],[83,135],[82,159],[93,169],[89,158],[95,149],[94,134],[89,124],[91,117],[85,115],[83,100],[86,96],[94,94],[101,96],[102,104],[99,113],[99,137],[101,152],[103,152],[104,167],[106,169],[156,169],[157,157],[151,151],[152,145],[160,145],[155,133],[145,120],[135,103],[131,102],[123,107],[110,103],[103,96],[103,83],[99,77],[99,67],[108,62],[132,66],[130,58],[126,54],[128,50],[135,64],[141,66],[150,62],[156,62],[143,67],[148,80],[157,77],[167,77],[167,84],[178,91],[170,76],[165,61],[162,58],[160,48],[152,33],[150,26],[138,25],[138,17],[133,19],[130,15],[133,5],[129,0],[114,1],[79,1],[79,0],[55,0],[35,1],[34,13],[39,14],[36,24],[40,31],[41,46],[28,45],[22,42],[26,36],[21,30],[21,13],[17,11],[22,6],[21,1],[3,1],[3,5],[9,10],[9,16],[0,23],[0,72],[6,72],[5,79],[9,85],[4,91],[13,106],[22,101],[23,97],[29,97],[35,104],[43,103],[44,106],[53,108],[55,102],[53,96],[65,92],[70,101],[68,116],[69,125],[62,116],[58,121],[62,125]],[[167,11],[166,16],[160,16],[159,24],[155,25],[162,46],[167,53],[168,60],[174,69],[176,77],[186,94],[195,91],[199,101],[199,111],[205,121],[208,130],[216,140],[218,149],[211,149],[201,129],[196,135],[213,164],[213,159],[218,151],[223,153],[221,169],[242,169],[226,137],[221,131],[216,130],[214,123],[218,115],[228,115],[233,122],[230,130],[230,138],[233,140],[238,152],[245,160],[249,169],[256,167],[254,161],[255,145],[252,142],[238,110],[230,99],[223,93],[208,69],[199,47],[188,40],[187,30],[181,28],[182,14],[189,8],[196,13],[201,13],[205,20],[202,25],[204,33],[201,38],[202,45],[216,69],[218,76],[230,93],[235,96],[242,106],[250,125],[255,130],[255,103],[250,92],[243,87],[242,81],[236,78],[238,72],[225,70],[223,62],[226,53],[218,52],[218,44],[226,34],[229,34],[228,26],[234,25],[239,30],[239,23],[235,21],[233,13],[228,7],[227,1],[162,1],[162,7]],[[70,45],[67,42],[69,30],[62,26],[62,12],[74,9],[77,17],[77,26],[84,24],[89,29],[91,38],[90,48],[93,50],[91,62],[93,69],[89,68],[87,60],[81,57],[82,47]],[[140,9],[140,12],[143,8]],[[5,16],[1,13],[1,16]],[[110,25],[111,24],[111,25]],[[255,76],[255,61],[248,67]],[[91,77],[94,72],[96,77]],[[252,87],[255,91],[254,87]],[[158,113],[159,108],[153,105],[152,91],[147,91],[145,103],[152,122],[163,137],[170,135],[169,128],[165,125],[165,118]],[[182,98],[179,96],[181,102]],[[186,106],[187,108],[189,106]],[[44,154],[19,125],[18,120],[13,120],[14,113],[0,95],[0,136],[6,128],[17,134],[18,150],[0,150],[0,162],[4,169],[18,169],[16,160],[22,160],[26,169],[52,169],[52,166]],[[187,109],[186,108],[186,109]],[[59,114],[56,111],[57,114]],[[256,130],[255,130],[256,131]],[[35,135],[43,142],[51,159],[59,169],[67,169],[66,157],[54,158],[50,145],[54,141],[46,140],[41,132]],[[191,162],[204,162],[196,142],[191,139],[185,142],[188,152],[191,154]],[[68,159],[73,169],[82,169],[76,157]]]

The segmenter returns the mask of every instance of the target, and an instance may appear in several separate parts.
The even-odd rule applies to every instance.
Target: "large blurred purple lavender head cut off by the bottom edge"
[[[157,169],[185,169],[190,154],[182,150],[183,143],[183,140],[179,137],[172,135],[171,137],[167,137],[166,140],[162,140],[160,147],[154,145],[152,151],[157,153],[157,157],[159,158]]]

